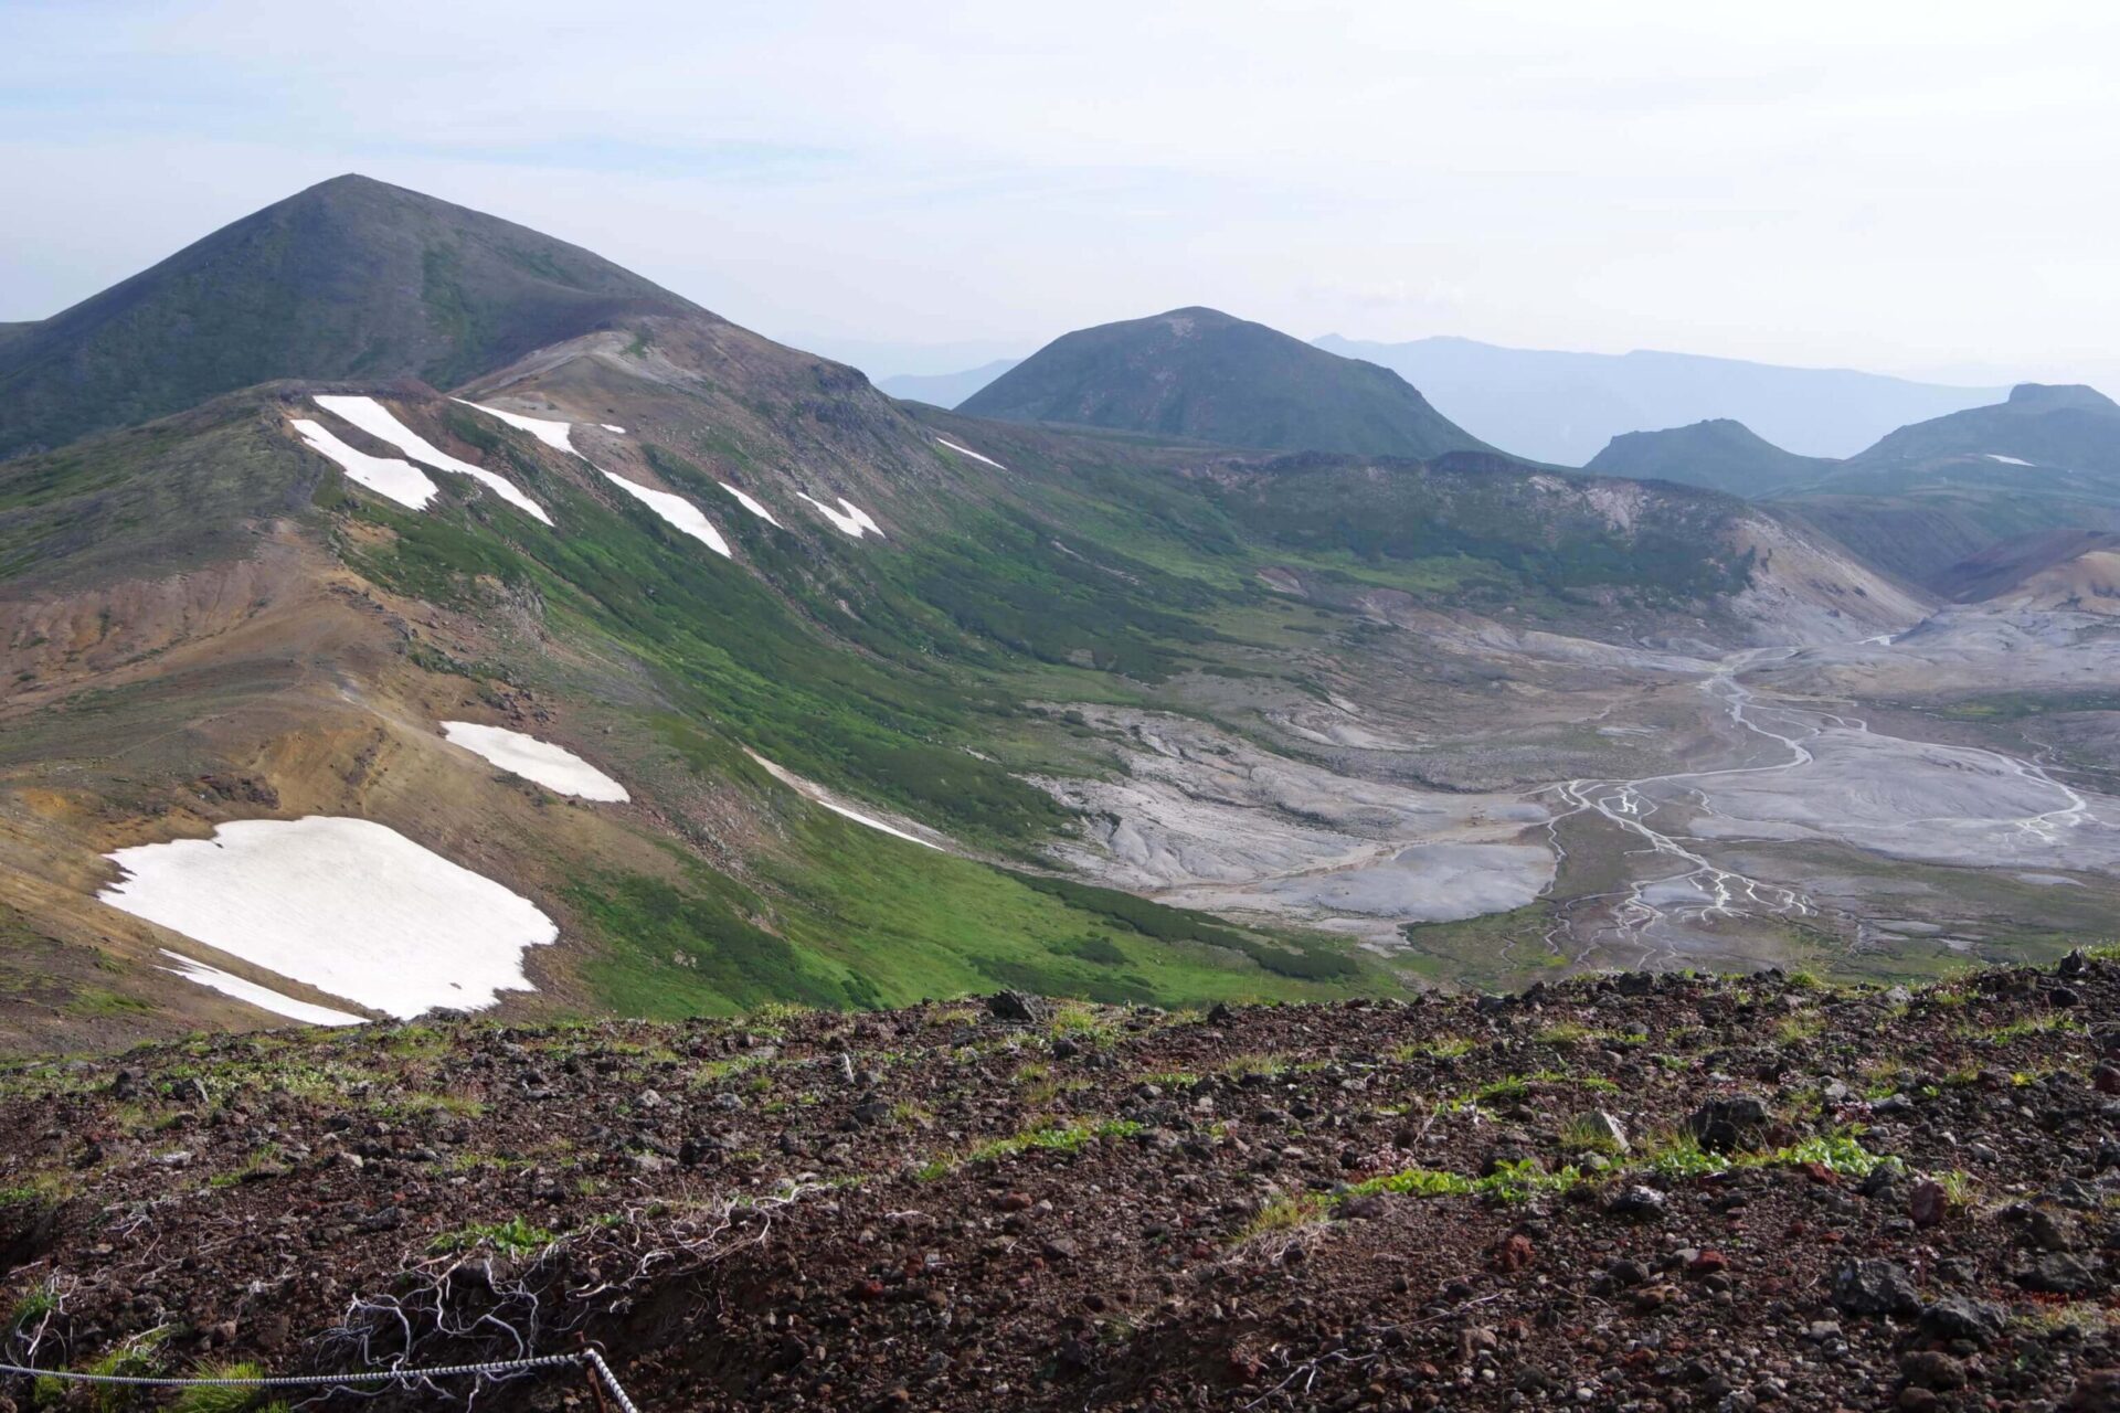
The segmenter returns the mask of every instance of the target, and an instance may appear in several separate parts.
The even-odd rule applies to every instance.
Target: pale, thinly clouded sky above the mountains
[[[2120,390],[2116,68],[2082,0],[0,0],[0,320],[363,172],[871,375],[1215,305]]]

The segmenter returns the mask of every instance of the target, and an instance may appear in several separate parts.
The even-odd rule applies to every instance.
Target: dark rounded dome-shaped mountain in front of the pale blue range
[[[958,411],[1280,451],[1418,460],[1490,449],[1397,373],[1215,309],[1062,335]]]

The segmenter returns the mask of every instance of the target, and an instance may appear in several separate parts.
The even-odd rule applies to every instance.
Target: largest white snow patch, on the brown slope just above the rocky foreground
[[[98,894],[110,907],[401,1019],[534,991],[524,949],[560,936],[528,898],[373,820],[235,820],[106,858],[127,875]]]

